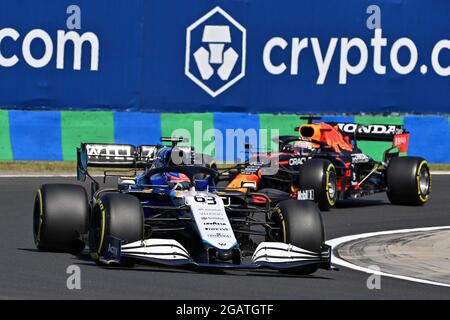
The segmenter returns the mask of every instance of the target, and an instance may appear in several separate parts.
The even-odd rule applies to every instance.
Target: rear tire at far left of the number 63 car
[[[79,253],[85,243],[80,235],[89,227],[89,203],[82,186],[44,184],[36,193],[33,236],[41,251]]]

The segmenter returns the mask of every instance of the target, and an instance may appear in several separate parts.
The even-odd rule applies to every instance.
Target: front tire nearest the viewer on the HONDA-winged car
[[[334,164],[326,159],[306,161],[299,170],[298,188],[314,190],[314,201],[320,210],[328,211],[337,199],[337,177]]]

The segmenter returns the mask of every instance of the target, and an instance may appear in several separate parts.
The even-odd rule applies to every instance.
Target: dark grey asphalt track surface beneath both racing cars
[[[298,277],[268,271],[196,273],[159,267],[102,268],[88,257],[38,252],[32,208],[38,186],[75,178],[0,178],[0,298],[31,299],[450,299],[450,289],[341,268]],[[425,207],[399,207],[384,194],[339,204],[324,213],[327,238],[383,230],[450,225],[450,176],[434,176]],[[81,290],[69,290],[66,269],[81,268]]]

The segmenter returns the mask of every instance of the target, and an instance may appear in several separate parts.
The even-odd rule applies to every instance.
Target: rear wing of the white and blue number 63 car
[[[161,145],[82,143],[77,148],[77,178],[86,180],[89,167],[138,169],[149,166]]]

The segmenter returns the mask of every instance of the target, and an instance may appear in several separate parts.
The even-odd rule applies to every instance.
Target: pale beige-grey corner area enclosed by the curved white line
[[[363,268],[377,266],[388,274],[450,286],[450,229],[408,230],[345,242],[334,246],[335,256]]]

